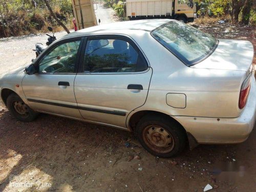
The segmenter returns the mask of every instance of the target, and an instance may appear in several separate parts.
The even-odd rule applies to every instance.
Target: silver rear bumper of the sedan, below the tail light
[[[256,83],[252,77],[251,90],[245,109],[238,118],[174,117],[198,143],[241,143],[251,133],[256,118]]]

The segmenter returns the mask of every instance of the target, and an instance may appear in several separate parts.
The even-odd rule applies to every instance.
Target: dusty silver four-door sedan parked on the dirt
[[[245,141],[256,111],[253,47],[177,20],[100,25],[56,40],[26,69],[0,79],[21,121],[48,113],[134,132],[153,155],[188,141]]]

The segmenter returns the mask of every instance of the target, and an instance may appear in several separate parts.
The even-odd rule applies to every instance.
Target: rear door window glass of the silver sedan
[[[93,39],[87,42],[84,73],[126,73],[146,69],[145,59],[125,40]]]

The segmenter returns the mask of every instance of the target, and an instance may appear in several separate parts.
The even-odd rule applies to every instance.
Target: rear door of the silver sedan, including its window
[[[75,96],[88,121],[126,129],[127,115],[146,101],[152,69],[128,37],[87,39],[75,78]]]

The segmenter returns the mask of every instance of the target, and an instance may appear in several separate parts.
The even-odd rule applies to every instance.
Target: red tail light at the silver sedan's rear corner
[[[239,96],[239,104],[238,104],[239,109],[244,108],[250,92],[250,88],[251,88],[251,74],[248,75],[248,77],[245,79],[245,81],[242,84],[240,96]]]

